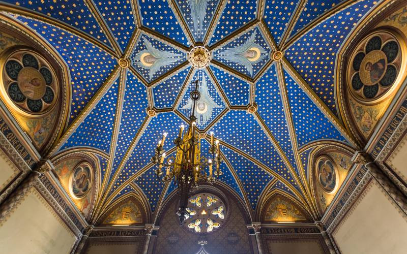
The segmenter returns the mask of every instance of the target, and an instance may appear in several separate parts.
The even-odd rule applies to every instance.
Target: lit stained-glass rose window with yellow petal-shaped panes
[[[194,233],[211,233],[226,219],[225,203],[216,195],[199,193],[188,200],[185,227]]]

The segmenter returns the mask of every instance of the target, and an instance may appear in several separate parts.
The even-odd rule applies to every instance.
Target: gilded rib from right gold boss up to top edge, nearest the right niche
[[[312,30],[315,26],[317,26],[319,23],[323,22],[324,20],[328,19],[332,15],[346,9],[348,6],[353,5],[355,2],[358,2],[360,0],[348,0],[348,1],[342,1],[339,4],[335,5],[332,7],[330,10],[324,12],[323,14],[319,15],[317,18],[312,20],[310,23],[308,23],[306,26],[301,28],[300,30],[295,33],[292,37],[288,38],[286,42],[283,42],[281,45],[281,51],[285,51],[289,47],[291,47],[302,35],[305,35],[308,33],[308,31]]]

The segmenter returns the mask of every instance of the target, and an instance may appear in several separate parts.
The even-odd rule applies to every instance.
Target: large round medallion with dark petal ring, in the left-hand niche
[[[56,75],[48,61],[30,49],[6,51],[2,78],[6,98],[29,115],[44,114],[58,97]]]

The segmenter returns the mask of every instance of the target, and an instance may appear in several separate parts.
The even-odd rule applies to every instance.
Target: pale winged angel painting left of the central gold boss
[[[142,37],[142,40],[147,49],[137,53],[133,58],[133,62],[141,68],[150,70],[150,80],[160,68],[172,65],[183,57],[182,54],[156,49],[146,37]]]

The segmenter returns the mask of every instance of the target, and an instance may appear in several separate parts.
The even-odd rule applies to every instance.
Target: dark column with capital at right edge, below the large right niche
[[[400,189],[382,172],[370,154],[364,151],[358,151],[353,156],[352,161],[357,164],[362,164],[383,189],[386,190],[387,194],[396,202],[400,209],[407,214],[407,197],[405,197]]]

